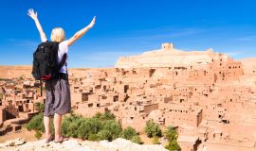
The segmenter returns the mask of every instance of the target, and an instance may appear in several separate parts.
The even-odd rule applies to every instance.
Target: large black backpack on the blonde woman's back
[[[33,54],[32,76],[36,80],[49,81],[59,77],[59,71],[63,67],[66,59],[58,63],[59,42],[42,42],[37,46]]]

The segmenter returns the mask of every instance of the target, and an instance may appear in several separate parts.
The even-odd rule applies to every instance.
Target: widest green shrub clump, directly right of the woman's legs
[[[93,118],[71,115],[64,118],[62,133],[64,136],[82,140],[106,139],[112,141],[118,138],[122,131],[120,124],[113,119],[115,119],[115,115],[110,112],[97,113]]]

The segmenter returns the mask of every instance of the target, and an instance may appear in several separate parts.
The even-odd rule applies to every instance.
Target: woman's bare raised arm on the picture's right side
[[[93,25],[95,24],[96,21],[96,16],[94,16],[94,18],[92,19],[91,23],[85,27],[83,27],[81,30],[79,30],[78,32],[76,32],[76,34],[74,36],[72,36],[69,40],[67,40],[67,45],[70,46],[72,45],[74,42],[76,42],[77,40],[79,40],[80,38],[82,38],[82,36],[90,29],[93,27]]]

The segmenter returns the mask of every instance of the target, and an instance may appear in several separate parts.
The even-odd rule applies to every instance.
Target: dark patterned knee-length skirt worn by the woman
[[[70,88],[68,80],[54,79],[46,81],[45,116],[55,113],[64,115],[71,110]]]

